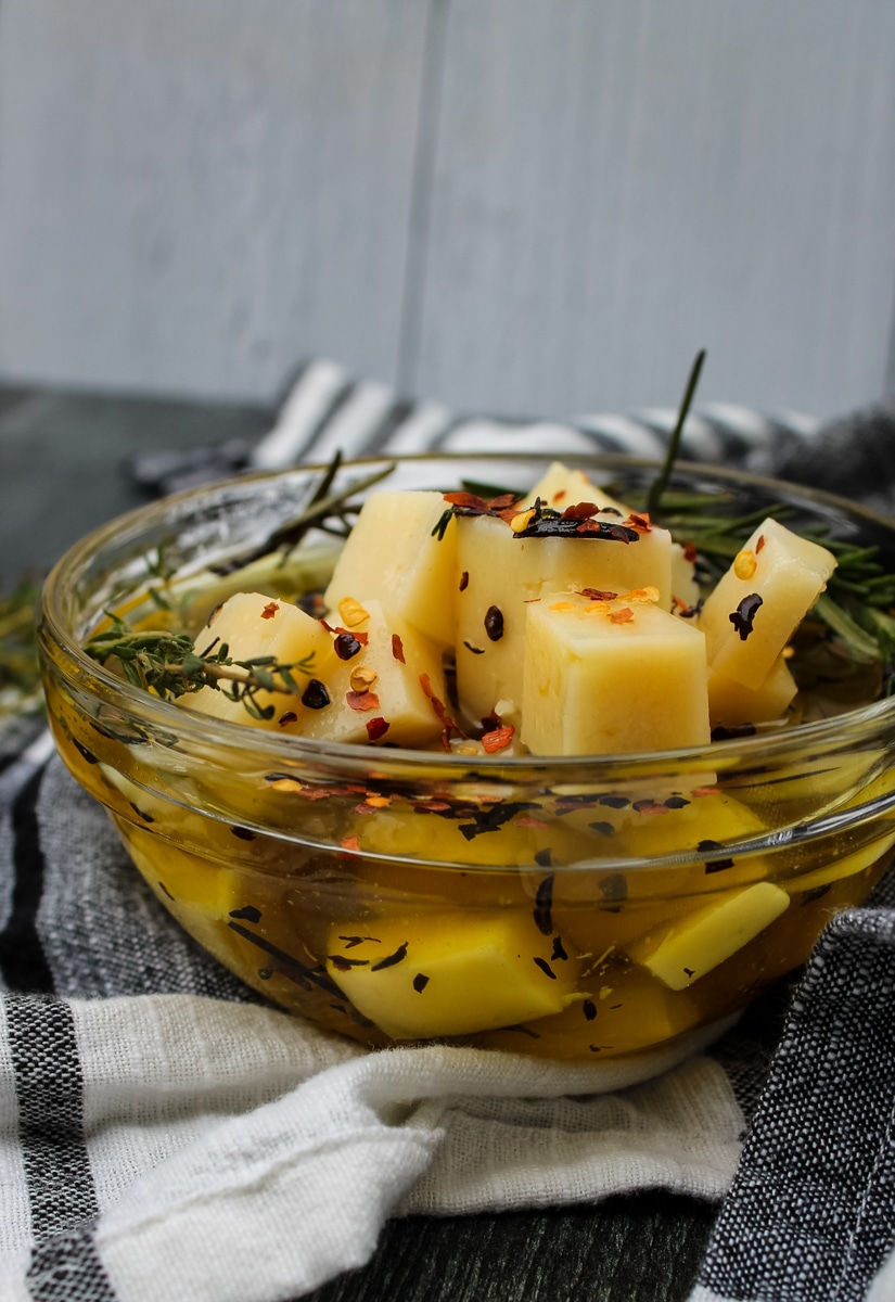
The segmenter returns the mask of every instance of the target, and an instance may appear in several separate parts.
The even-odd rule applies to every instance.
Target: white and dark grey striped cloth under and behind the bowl
[[[458,419],[315,362],[256,447],[135,473],[170,488],[336,448],[657,452],[673,419]],[[885,497],[887,419],[875,461],[853,424],[731,408],[700,409],[684,441]],[[22,724],[0,738],[0,1298],[298,1298],[367,1260],[390,1216],[657,1186],[719,1203],[693,1302],[895,1298],[894,875],[804,979],[683,1061],[368,1053],[200,952]]]

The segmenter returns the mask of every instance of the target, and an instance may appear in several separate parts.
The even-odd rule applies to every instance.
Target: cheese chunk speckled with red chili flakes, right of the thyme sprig
[[[385,612],[380,602],[366,598],[354,600],[347,631],[355,641],[366,637],[366,642],[347,660],[330,661],[324,677],[329,700],[306,711],[297,730],[315,741],[351,745],[388,741],[424,746],[436,741],[444,728],[436,702],[446,702],[441,648],[406,620]]]

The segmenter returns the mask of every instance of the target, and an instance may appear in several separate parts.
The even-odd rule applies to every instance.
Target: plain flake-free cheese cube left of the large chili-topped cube
[[[345,596],[377,599],[427,638],[451,646],[454,522],[441,540],[432,536],[445,510],[440,492],[372,493],[324,594],[329,609],[334,613]]]

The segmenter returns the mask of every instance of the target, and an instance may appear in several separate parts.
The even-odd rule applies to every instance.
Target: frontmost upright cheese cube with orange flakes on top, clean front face
[[[536,755],[709,742],[705,642],[650,600],[554,594],[528,607],[522,738]]]

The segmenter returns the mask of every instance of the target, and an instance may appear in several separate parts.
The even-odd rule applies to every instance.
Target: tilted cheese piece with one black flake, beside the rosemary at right
[[[825,547],[775,519],[758,525],[700,615],[713,671],[760,687],[835,568]]]

